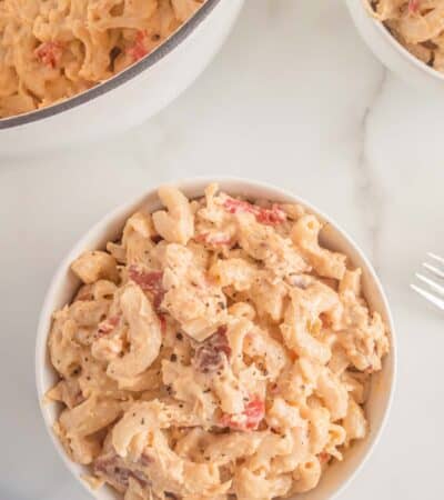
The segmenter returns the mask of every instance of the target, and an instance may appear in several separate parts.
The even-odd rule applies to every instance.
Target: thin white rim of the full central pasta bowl
[[[274,192],[278,197],[281,196],[283,198],[287,198],[292,200],[294,203],[300,203],[304,208],[307,209],[309,212],[315,214],[319,217],[322,221],[324,221],[326,224],[331,226],[334,231],[340,233],[347,243],[351,244],[353,250],[356,252],[356,254],[362,260],[363,267],[365,267],[365,270],[369,273],[370,280],[373,282],[373,284],[376,288],[376,291],[381,299],[381,307],[382,310],[380,312],[383,312],[383,316],[387,322],[389,330],[390,330],[390,338],[391,338],[391,364],[387,367],[390,370],[390,381],[389,381],[389,394],[386,398],[386,406],[384,409],[384,412],[381,417],[381,421],[379,424],[379,428],[376,429],[375,433],[372,437],[372,440],[367,444],[367,449],[364,452],[363,457],[360,459],[356,467],[351,470],[351,472],[347,474],[346,479],[332,492],[332,494],[329,497],[329,500],[333,500],[336,497],[339,497],[353,481],[353,479],[359,474],[359,472],[362,471],[364,464],[370,459],[371,454],[373,453],[376,444],[379,443],[382,433],[386,427],[389,416],[392,410],[393,406],[393,399],[396,388],[396,379],[397,379],[397,342],[396,342],[396,333],[395,333],[395,326],[393,320],[393,314],[391,307],[389,304],[389,300],[386,297],[386,293],[384,291],[384,288],[382,286],[382,282],[380,278],[377,277],[372,263],[365,256],[365,253],[362,251],[360,246],[354,241],[352,237],[345,231],[341,226],[337,224],[333,219],[325,216],[325,213],[322,210],[319,210],[316,207],[314,207],[312,203],[307,202],[304,198],[301,198],[297,194],[294,194],[292,191],[280,188],[273,183],[269,182],[262,182],[262,181],[252,181],[246,178],[239,178],[239,177],[194,177],[194,178],[188,178],[179,181],[170,181],[168,182],[168,186],[174,186],[181,190],[195,190],[199,186],[206,186],[211,182],[216,182],[223,188],[223,184],[236,184],[238,189],[242,192],[246,192],[248,189],[254,190],[264,190],[268,192]],[[62,448],[60,441],[57,439],[54,432],[52,431],[53,420],[49,418],[49,412],[46,411],[46,402],[44,402],[44,394],[48,391],[49,388],[44,387],[43,382],[43,373],[46,369],[44,360],[47,359],[48,351],[47,351],[47,342],[48,342],[48,336],[49,336],[49,328],[48,326],[51,323],[51,317],[52,312],[54,310],[53,302],[57,294],[57,290],[60,287],[60,284],[67,279],[67,271],[70,268],[70,263],[75,259],[75,257],[79,256],[81,251],[83,251],[85,248],[89,247],[89,242],[94,239],[94,236],[100,233],[104,228],[110,228],[112,226],[115,226],[115,223],[122,219],[122,217],[127,217],[127,213],[131,212],[131,210],[134,210],[135,207],[139,207],[143,203],[143,200],[147,200],[149,197],[152,197],[155,194],[160,184],[155,186],[149,186],[148,188],[141,190],[138,194],[132,196],[123,203],[117,206],[114,209],[108,211],[102,218],[100,218],[89,230],[87,230],[83,236],[77,241],[77,243],[73,244],[73,247],[67,252],[65,257],[61,260],[60,264],[58,266],[56,273],[53,274],[50,284],[48,287],[44,301],[41,308],[40,317],[38,320],[38,329],[37,329],[37,338],[36,338],[36,357],[34,357],[34,368],[36,368],[36,386],[37,386],[37,397],[38,397],[38,404],[40,408],[40,412],[44,422],[44,428],[50,436],[50,439],[52,443],[54,444],[54,448],[57,449],[59,456],[62,458],[62,461],[67,466],[68,470],[71,472],[71,474],[83,486],[83,488],[92,494],[94,498],[97,497],[97,493],[87,484],[84,480],[82,480],[81,477],[79,477],[78,471],[75,470],[75,463],[72,462],[68,454],[65,453],[64,449]],[[203,194],[203,189],[201,189],[201,192]],[[387,362],[389,358],[386,359]]]

